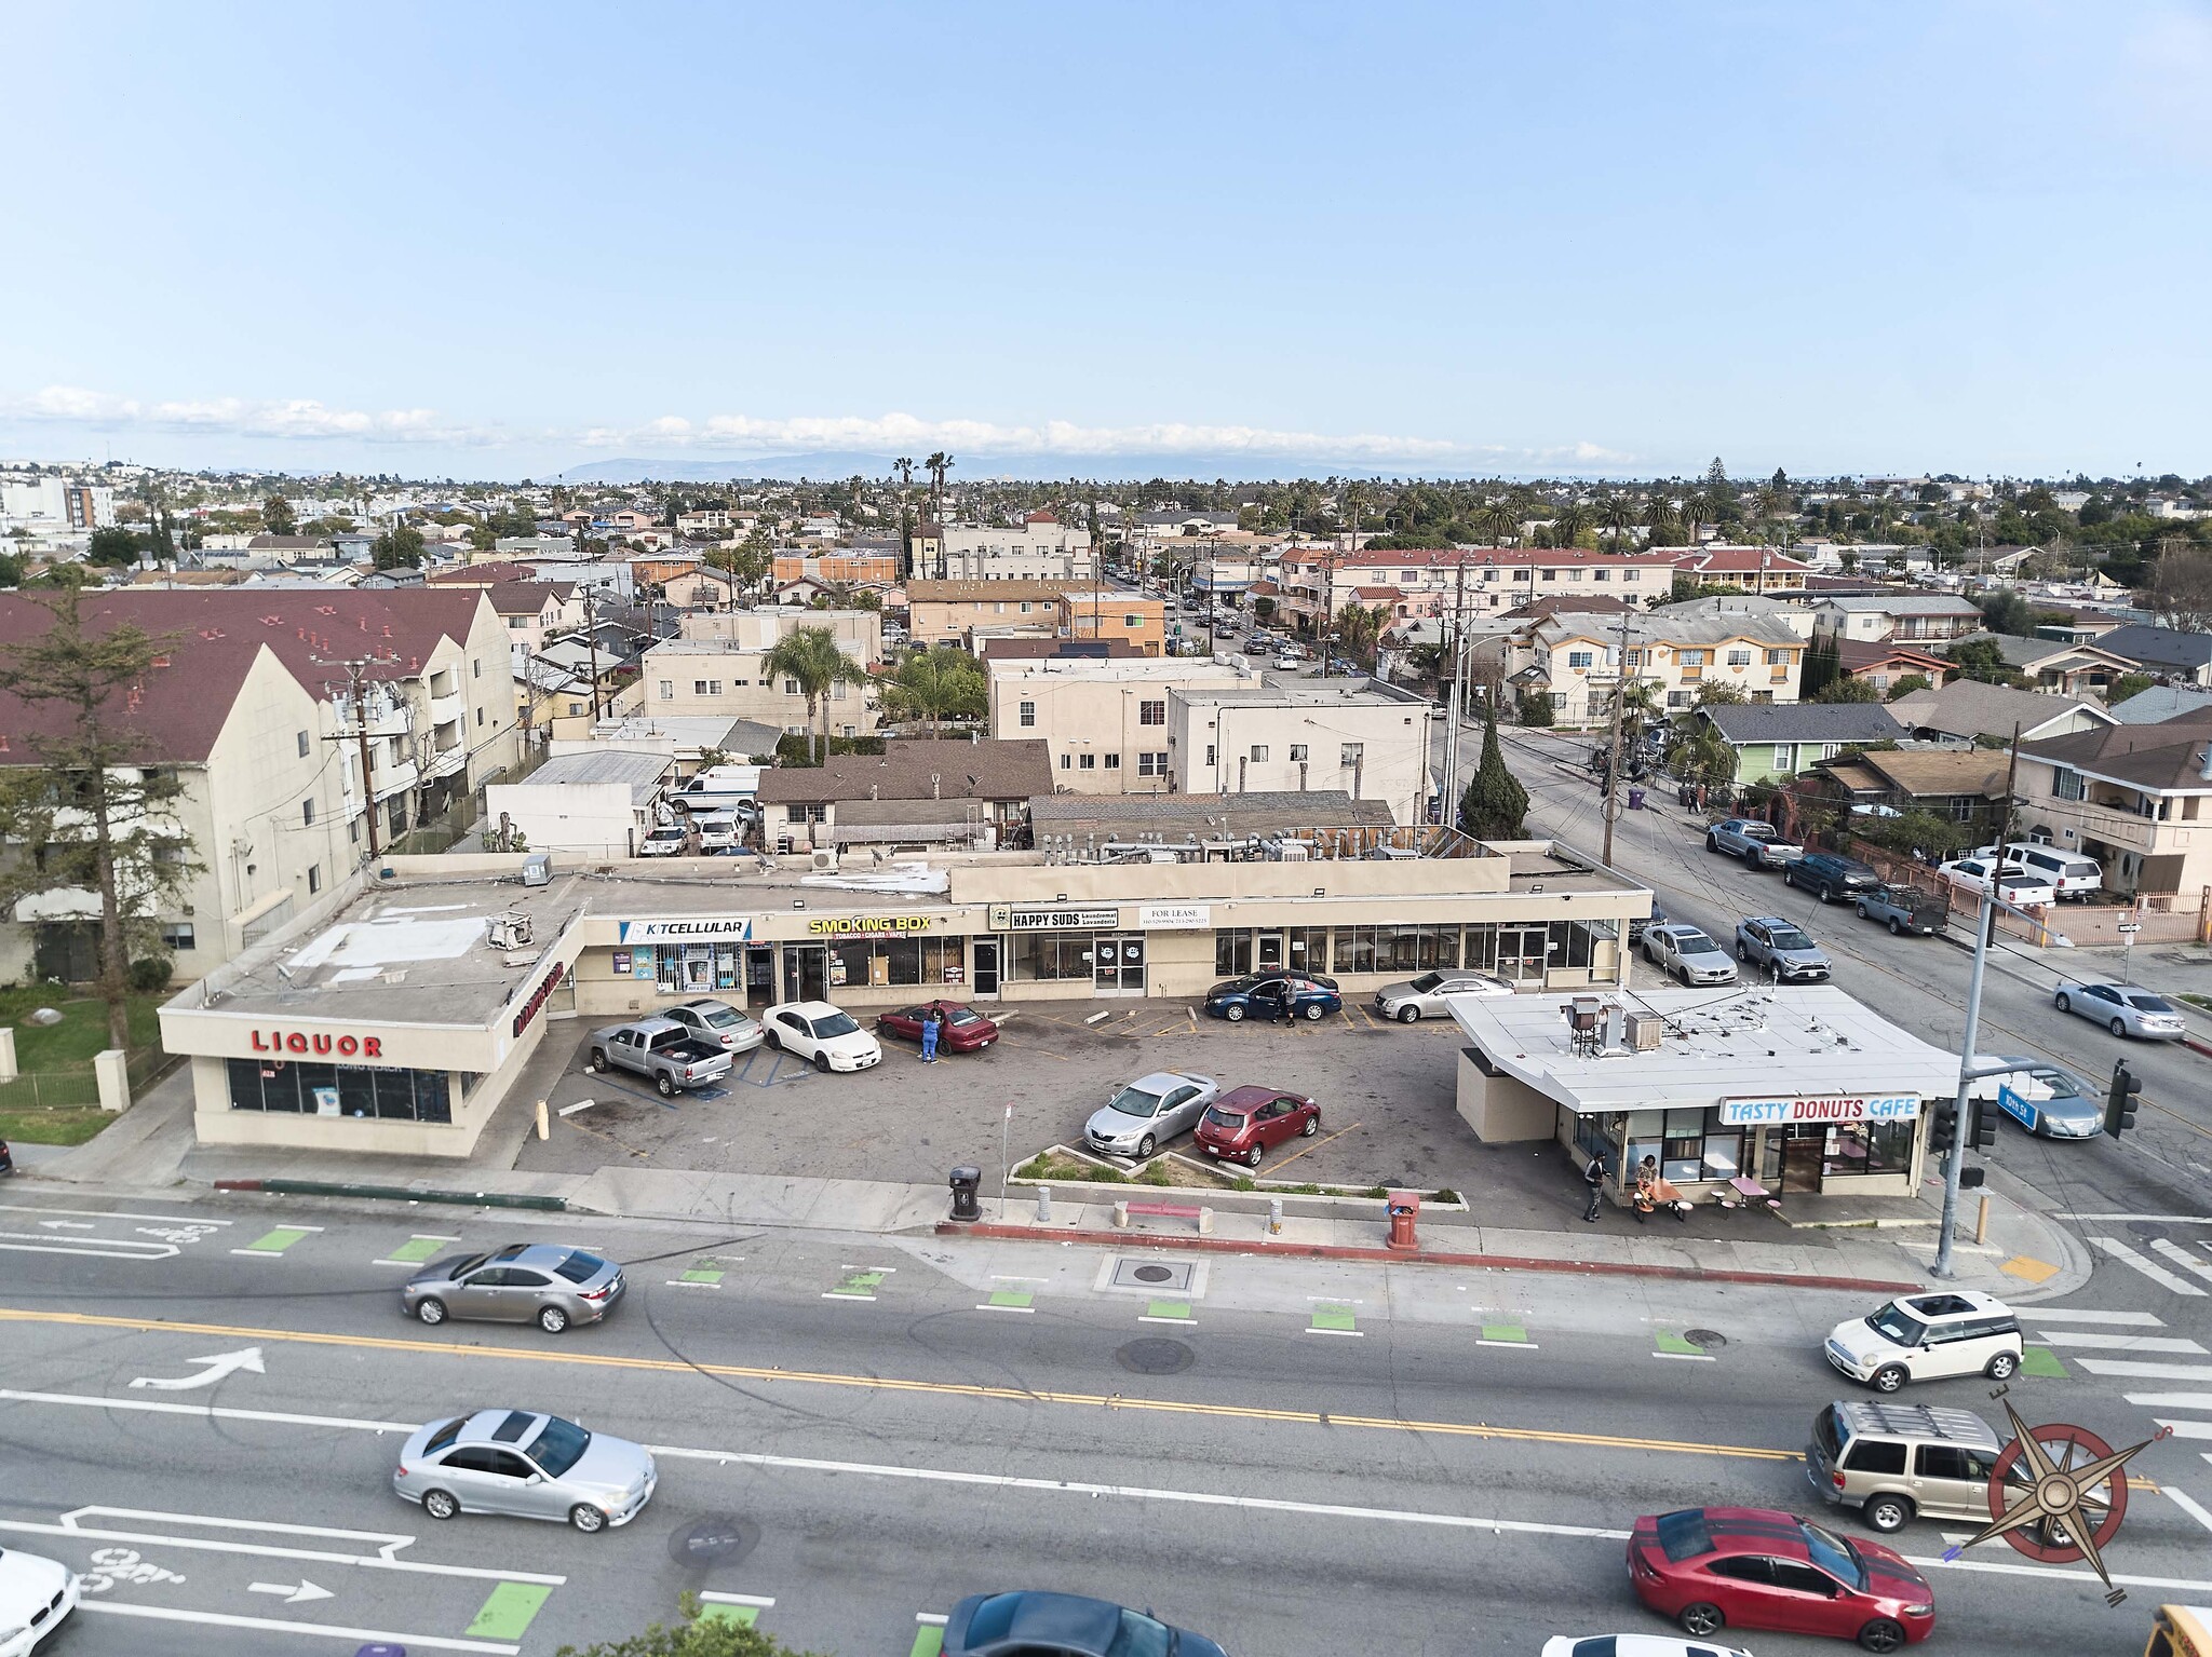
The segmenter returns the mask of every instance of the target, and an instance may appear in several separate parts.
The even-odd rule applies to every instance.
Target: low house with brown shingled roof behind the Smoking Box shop
[[[1053,791],[1044,742],[885,742],[814,767],[761,773],[761,835],[779,851],[907,840],[993,837],[1022,824],[1031,795]],[[911,833],[905,833],[911,831]]]

